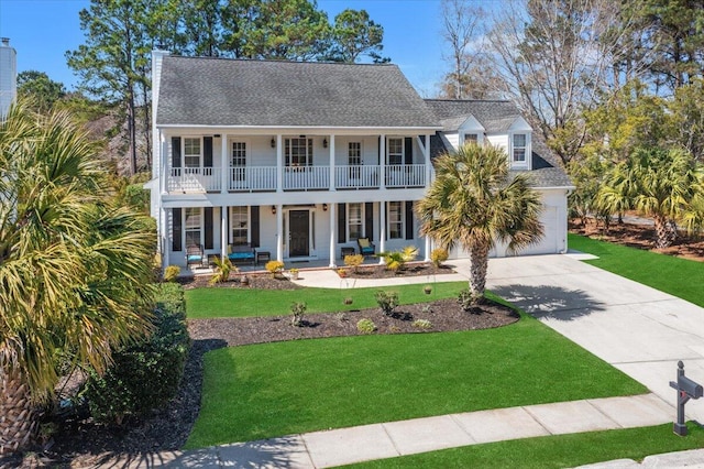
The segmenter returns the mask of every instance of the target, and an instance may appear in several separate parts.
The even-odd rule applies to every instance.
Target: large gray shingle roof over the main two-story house
[[[164,57],[157,126],[439,128],[396,65]]]

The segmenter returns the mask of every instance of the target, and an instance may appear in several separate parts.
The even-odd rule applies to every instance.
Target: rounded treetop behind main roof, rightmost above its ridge
[[[346,9],[334,17],[331,32],[331,61],[355,63],[367,55],[374,63],[388,62],[382,57],[384,28],[370,19],[366,10]]]

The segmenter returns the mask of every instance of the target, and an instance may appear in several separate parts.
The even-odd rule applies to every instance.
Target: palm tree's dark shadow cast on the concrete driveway
[[[572,320],[602,312],[605,305],[582,290],[559,286],[503,285],[492,292],[536,318]]]

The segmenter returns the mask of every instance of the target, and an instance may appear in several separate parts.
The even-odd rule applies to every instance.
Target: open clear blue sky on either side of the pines
[[[44,72],[73,89],[77,77],[66,66],[65,53],[84,43],[78,12],[89,4],[87,0],[0,0],[0,37],[9,37],[15,48],[18,73]],[[366,10],[384,26],[383,55],[400,67],[421,96],[436,96],[448,70],[442,58],[447,46],[440,0],[319,0],[318,8],[331,21],[345,8]]]

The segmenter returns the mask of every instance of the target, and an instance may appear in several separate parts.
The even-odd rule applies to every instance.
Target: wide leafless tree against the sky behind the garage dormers
[[[608,87],[623,42],[610,0],[506,2],[488,40],[504,92],[568,163],[584,143],[581,113]],[[606,41],[606,39],[609,39]]]

